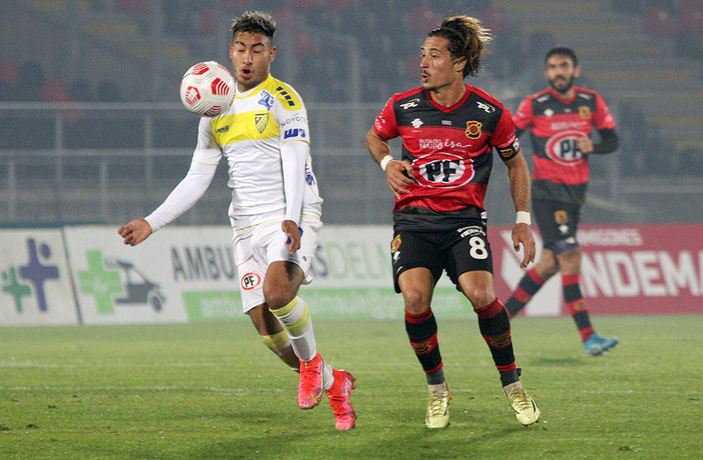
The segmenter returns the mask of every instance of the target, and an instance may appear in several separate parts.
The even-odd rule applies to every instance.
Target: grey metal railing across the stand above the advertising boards
[[[325,222],[389,223],[392,197],[364,138],[383,103],[308,105],[314,169]],[[0,103],[0,224],[117,225],[152,211],[183,178],[198,117],[179,103]],[[529,144],[523,145],[529,157]],[[392,147],[398,152],[399,143]],[[622,178],[616,156],[594,158],[589,204],[598,221],[697,221],[703,179]],[[180,224],[228,223],[224,164]],[[642,199],[646,197],[646,199]],[[697,198],[696,198],[697,197]],[[496,162],[486,196],[494,224],[514,216],[505,168]],[[605,218],[604,218],[605,215]],[[584,219],[588,222],[588,216]]]

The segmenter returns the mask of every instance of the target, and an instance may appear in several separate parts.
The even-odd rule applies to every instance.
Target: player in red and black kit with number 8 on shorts
[[[539,417],[534,400],[520,384],[508,313],[494,291],[484,209],[495,149],[508,166],[517,211],[512,240],[516,251],[520,245],[524,248],[522,266],[527,266],[535,254],[529,228],[529,169],[510,112],[464,82],[477,74],[487,32],[467,16],[447,18],[429,32],[420,48],[422,85],[390,98],[366,137],[395,195],[394,285],[403,294],[406,331],[427,376],[428,428],[449,424],[451,394],[430,308],[434,285],[444,270],[479,317],[479,329],[517,419],[530,425]],[[403,140],[399,160],[390,155],[388,143],[398,136]]]

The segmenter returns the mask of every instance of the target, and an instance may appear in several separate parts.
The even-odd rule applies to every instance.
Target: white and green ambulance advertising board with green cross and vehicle
[[[231,229],[163,228],[136,247],[117,229],[65,229],[77,300],[85,324],[150,324],[247,320],[233,262]],[[315,317],[402,318],[393,291],[390,226],[323,227],[314,282],[299,295]],[[448,280],[433,308],[469,315],[470,304]]]

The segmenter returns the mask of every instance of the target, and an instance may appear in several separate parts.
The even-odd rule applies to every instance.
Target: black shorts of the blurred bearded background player
[[[539,232],[542,234],[543,247],[561,254],[567,249],[579,245],[576,230],[579,229],[581,206],[564,202],[534,200],[532,202]]]

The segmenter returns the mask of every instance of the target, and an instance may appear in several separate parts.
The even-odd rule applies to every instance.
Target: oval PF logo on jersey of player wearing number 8
[[[432,188],[461,187],[474,177],[471,159],[452,153],[437,152],[413,162],[413,174],[420,185]]]

